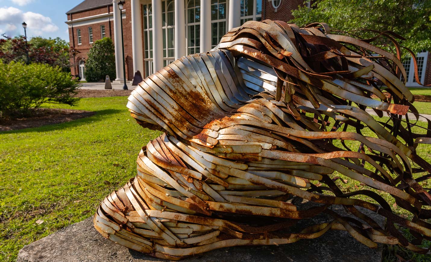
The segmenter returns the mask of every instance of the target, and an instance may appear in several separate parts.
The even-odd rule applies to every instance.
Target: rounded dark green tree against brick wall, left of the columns
[[[109,75],[110,79],[116,77],[115,49],[111,38],[104,37],[94,42],[88,51],[84,74],[88,82],[104,80],[106,75]]]

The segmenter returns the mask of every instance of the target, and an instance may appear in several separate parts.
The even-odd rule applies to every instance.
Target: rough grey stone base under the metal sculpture
[[[344,213],[342,207],[333,209]],[[362,210],[362,209],[360,209]],[[379,224],[381,216],[371,216]],[[345,215],[345,213],[344,213]],[[319,215],[300,221],[323,222]],[[189,257],[184,262],[381,262],[382,245],[370,249],[346,231],[328,231],[315,239],[303,239],[279,246],[227,247]],[[93,218],[70,225],[37,240],[19,251],[18,262],[149,262],[166,261],[153,258],[105,239],[93,227]]]

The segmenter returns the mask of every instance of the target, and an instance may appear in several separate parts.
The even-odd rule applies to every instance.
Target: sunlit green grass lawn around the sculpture
[[[159,133],[135,123],[125,109],[126,99],[81,99],[75,108],[96,111],[94,116],[0,133],[0,261],[15,261],[24,245],[92,216],[107,194],[135,176],[139,148]],[[348,131],[355,132],[353,128]],[[362,131],[365,136],[375,136],[369,129]],[[347,145],[358,146],[353,141]],[[431,161],[431,145],[419,145],[418,150]],[[356,190],[356,186],[375,191],[340,174],[333,176],[348,180],[347,184],[336,182],[344,192]],[[421,185],[431,187],[427,181]],[[393,206],[390,195],[379,194],[394,212],[409,216]],[[39,225],[37,220],[44,222]],[[424,241],[423,246],[430,244]],[[385,249],[384,261],[397,261],[395,254],[412,262],[431,262],[430,256],[397,246]]]

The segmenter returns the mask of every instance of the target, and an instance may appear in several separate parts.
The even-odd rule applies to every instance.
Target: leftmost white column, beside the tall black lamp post
[[[114,45],[115,45],[115,70],[117,74],[116,81],[123,79],[123,51],[121,46],[121,20],[122,15],[118,9],[118,0],[112,0],[112,9],[114,10]]]

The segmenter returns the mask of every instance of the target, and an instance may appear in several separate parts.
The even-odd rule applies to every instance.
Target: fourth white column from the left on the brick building
[[[186,30],[184,17],[184,0],[174,1],[175,10],[175,59],[186,55]]]

